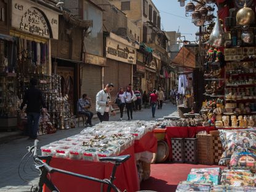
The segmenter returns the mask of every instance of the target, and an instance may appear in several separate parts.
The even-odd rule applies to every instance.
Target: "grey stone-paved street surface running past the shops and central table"
[[[162,118],[176,111],[176,106],[171,103],[164,103],[162,110],[156,109],[156,118]],[[142,111],[134,112],[134,120],[152,120],[151,109],[143,109]],[[110,121],[119,121],[120,114],[111,116]],[[124,113],[123,120],[127,120],[127,114]],[[97,124],[98,119],[93,119],[93,124]],[[47,145],[55,140],[60,140],[71,135],[78,134],[84,127],[76,127],[74,129],[57,130],[55,134],[39,136],[39,146]],[[25,172],[22,170],[22,176],[27,182],[18,177],[18,166],[24,154],[26,154],[26,146],[33,145],[33,140],[28,140],[27,137],[12,138],[7,143],[0,145],[0,191],[21,192],[30,191],[32,183],[36,184],[39,174],[34,173],[33,159],[28,159]],[[22,166],[23,167],[23,166]]]

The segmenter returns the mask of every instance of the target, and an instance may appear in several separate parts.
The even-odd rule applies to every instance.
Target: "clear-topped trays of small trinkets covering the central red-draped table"
[[[105,156],[118,156],[156,127],[154,121],[101,122],[80,134],[42,146],[42,155],[58,158],[98,161]]]

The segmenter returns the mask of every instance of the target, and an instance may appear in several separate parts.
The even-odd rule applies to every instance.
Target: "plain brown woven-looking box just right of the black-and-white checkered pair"
[[[212,135],[196,135],[198,138],[198,162],[199,164],[214,164],[214,146]]]

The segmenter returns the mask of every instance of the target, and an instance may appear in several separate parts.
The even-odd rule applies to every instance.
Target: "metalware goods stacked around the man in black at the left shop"
[[[19,78],[20,97],[29,87],[30,78],[38,79],[38,88],[44,95],[48,113],[42,114],[39,121],[38,135],[51,134],[56,129],[69,129],[75,127],[75,118],[70,111],[68,95],[62,95],[61,77],[58,74],[33,74]],[[23,115],[24,116],[24,115]]]

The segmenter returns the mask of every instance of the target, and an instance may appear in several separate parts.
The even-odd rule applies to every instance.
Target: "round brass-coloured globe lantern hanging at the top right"
[[[254,23],[254,11],[249,7],[246,7],[246,2],[244,2],[244,7],[239,9],[236,14],[236,24],[243,26],[252,23]]]

